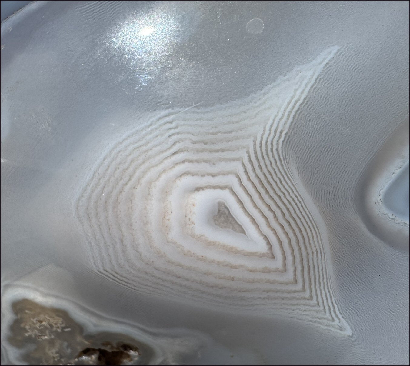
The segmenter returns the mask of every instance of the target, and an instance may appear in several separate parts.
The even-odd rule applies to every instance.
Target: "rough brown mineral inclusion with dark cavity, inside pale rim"
[[[144,343],[119,333],[84,334],[66,311],[28,299],[12,305],[17,318],[8,341],[22,350],[22,359],[37,365],[146,364],[153,351]]]

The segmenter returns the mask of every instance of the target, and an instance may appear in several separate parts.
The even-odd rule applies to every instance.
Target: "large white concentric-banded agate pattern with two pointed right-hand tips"
[[[282,154],[317,59],[246,100],[165,111],[110,148],[77,203],[93,268],[137,291],[350,334],[317,220]]]

